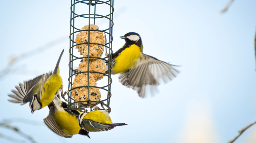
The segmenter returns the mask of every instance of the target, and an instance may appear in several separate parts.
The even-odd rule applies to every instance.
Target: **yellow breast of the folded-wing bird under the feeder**
[[[92,112],[87,113],[84,116],[84,119],[90,119],[90,120],[93,120],[95,122],[99,122],[99,123],[102,123],[102,124],[112,123],[108,112],[101,111],[101,110],[96,110],[96,111],[92,111]]]

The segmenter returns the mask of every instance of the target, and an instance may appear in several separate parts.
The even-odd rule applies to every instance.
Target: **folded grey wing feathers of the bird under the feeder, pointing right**
[[[108,131],[114,128],[113,126],[98,123],[90,119],[83,119],[83,124],[90,125],[98,131]]]

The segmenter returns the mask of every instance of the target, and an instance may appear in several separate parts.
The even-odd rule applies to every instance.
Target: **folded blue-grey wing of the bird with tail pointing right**
[[[83,119],[83,127],[88,132],[100,132],[113,129],[113,126],[95,122],[90,119]]]

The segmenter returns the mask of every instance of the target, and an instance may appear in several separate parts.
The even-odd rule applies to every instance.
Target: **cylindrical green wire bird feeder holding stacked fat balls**
[[[101,63],[105,67],[104,62],[112,60],[113,3],[114,0],[71,0],[67,110],[73,115],[78,116],[73,112],[74,110],[81,112],[82,109],[86,108],[87,111],[92,111],[94,106],[97,106],[98,110],[107,109],[109,113],[111,112],[109,106],[112,83],[111,70],[108,71],[109,74],[106,74],[105,69],[104,72],[99,72],[90,68],[98,68],[98,65],[93,66],[93,63]],[[97,34],[100,36],[95,36]],[[82,38],[79,39],[79,36]],[[84,37],[87,39],[83,39]],[[103,38],[105,42],[100,43],[92,40],[99,37]],[[102,52],[105,50],[105,54],[102,52],[100,56],[90,54],[93,47],[96,47],[97,52],[98,50],[102,50]],[[78,48],[81,55],[76,48]],[[108,69],[111,69],[111,67],[112,65],[109,64]],[[100,80],[92,77],[96,74],[100,75]],[[82,77],[84,79],[80,80]]]

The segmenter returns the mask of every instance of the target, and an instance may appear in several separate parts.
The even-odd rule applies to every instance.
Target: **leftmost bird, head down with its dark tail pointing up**
[[[62,79],[59,75],[59,62],[63,52],[64,49],[59,56],[53,72],[37,76],[32,80],[25,81],[24,84],[20,83],[19,86],[15,87],[17,91],[11,90],[14,94],[8,95],[15,100],[8,101],[22,104],[30,102],[31,113],[49,105],[53,101],[55,94],[62,87]]]

